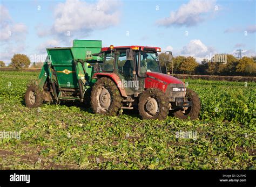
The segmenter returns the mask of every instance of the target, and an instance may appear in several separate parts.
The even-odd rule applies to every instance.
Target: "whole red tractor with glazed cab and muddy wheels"
[[[180,119],[198,118],[197,93],[166,74],[158,52],[159,47],[111,45],[93,54],[103,59],[102,64],[95,64],[92,77],[97,79],[91,91],[93,111],[116,116],[121,109],[135,107],[143,119],[164,120],[169,111]]]

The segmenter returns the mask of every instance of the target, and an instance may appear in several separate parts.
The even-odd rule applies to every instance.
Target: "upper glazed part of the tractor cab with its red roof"
[[[123,71],[125,75],[133,77],[133,71],[140,77],[146,77],[146,72],[162,73],[159,64],[159,47],[121,46],[104,47],[99,56],[104,56],[103,71]],[[166,66],[164,66],[166,68]],[[166,73],[166,70],[165,72]]]

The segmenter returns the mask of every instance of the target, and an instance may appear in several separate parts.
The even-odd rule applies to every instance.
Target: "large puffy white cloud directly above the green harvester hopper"
[[[119,1],[99,0],[96,3],[87,3],[67,0],[57,4],[53,12],[55,20],[50,30],[42,32],[37,28],[37,34],[39,37],[58,35],[63,40],[69,40],[73,35],[85,37],[94,30],[117,25],[119,9]]]

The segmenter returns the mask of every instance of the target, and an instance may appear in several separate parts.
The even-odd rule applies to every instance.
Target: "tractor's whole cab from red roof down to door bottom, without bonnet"
[[[102,48],[97,55],[103,58],[103,64],[100,68],[101,72],[95,74],[100,77],[105,74],[117,76],[114,80],[120,87],[124,95],[138,95],[144,91],[145,77],[147,72],[161,73],[158,60],[159,47],[144,46],[119,46]]]

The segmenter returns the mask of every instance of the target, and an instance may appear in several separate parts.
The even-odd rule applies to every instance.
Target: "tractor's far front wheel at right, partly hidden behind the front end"
[[[186,91],[186,100],[192,102],[192,106],[184,107],[174,112],[174,116],[180,119],[197,119],[199,117],[201,105],[197,93],[189,88]]]

